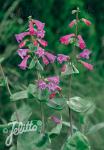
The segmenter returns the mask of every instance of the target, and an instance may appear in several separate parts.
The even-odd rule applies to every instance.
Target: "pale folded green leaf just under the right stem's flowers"
[[[66,64],[66,69],[64,72],[61,72],[61,75],[62,76],[65,76],[65,75],[70,75],[70,74],[78,74],[79,71],[78,69],[75,67],[75,65],[73,63],[67,63]]]

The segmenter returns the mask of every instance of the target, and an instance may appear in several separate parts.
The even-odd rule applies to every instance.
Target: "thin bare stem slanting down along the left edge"
[[[3,76],[4,80],[6,81],[6,87],[7,87],[8,93],[9,93],[9,95],[11,96],[11,95],[12,95],[12,92],[11,92],[10,87],[9,87],[8,79],[7,79],[7,77],[5,76],[5,73],[4,73],[4,71],[3,71],[3,68],[2,68],[2,66],[1,66],[1,64],[0,64],[0,69],[1,69],[1,72],[2,72],[2,76]],[[16,112],[17,121],[19,121],[19,116],[18,116],[18,113],[17,113],[17,107],[16,107],[16,104],[15,104],[15,103],[13,103],[13,107],[14,107],[14,110],[15,110],[15,112]]]

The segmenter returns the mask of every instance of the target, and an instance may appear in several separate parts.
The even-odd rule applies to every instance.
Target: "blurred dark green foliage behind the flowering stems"
[[[73,95],[90,97],[94,101],[96,109],[89,117],[89,124],[93,125],[104,121],[103,0],[0,0],[0,56],[5,57],[3,68],[9,78],[11,89],[16,91],[25,88],[25,85],[28,85],[29,81],[34,78],[34,73],[32,71],[24,72],[18,68],[17,64],[20,59],[16,53],[18,44],[14,34],[24,31],[27,27],[27,17],[32,15],[34,19],[41,20],[46,24],[45,39],[49,42],[48,49],[54,54],[69,54],[70,47],[60,44],[59,38],[73,32],[74,29],[68,28],[68,23],[74,19],[71,11],[76,7],[80,8],[80,17],[87,18],[92,22],[90,27],[82,25],[79,30],[87,47],[92,50],[91,63],[94,64],[94,71],[88,72],[80,68],[80,75],[73,79],[72,90]],[[67,81],[65,87],[67,87]],[[67,88],[65,91],[67,93]],[[9,101],[6,88],[0,88],[1,124],[9,122],[13,111]],[[65,136],[65,133],[63,135]],[[57,138],[56,141],[59,139]],[[89,139],[93,150],[104,150],[103,128],[90,135]],[[5,147],[4,137],[0,136],[0,150],[6,149],[8,148]],[[58,150],[55,147],[53,149]]]

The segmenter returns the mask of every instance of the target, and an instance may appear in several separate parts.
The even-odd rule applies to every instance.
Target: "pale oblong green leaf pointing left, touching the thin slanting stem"
[[[17,100],[22,100],[22,99],[27,99],[27,98],[28,98],[27,90],[16,92],[12,94],[10,97],[12,101],[17,101]]]

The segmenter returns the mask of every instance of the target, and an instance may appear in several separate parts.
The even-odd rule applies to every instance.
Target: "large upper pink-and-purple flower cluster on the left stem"
[[[54,63],[55,60],[60,64],[68,61],[68,56],[63,54],[55,56],[44,49],[48,45],[47,41],[43,39],[45,36],[44,26],[44,23],[30,17],[28,31],[15,35],[19,43],[17,53],[22,59],[22,62],[19,64],[21,69],[25,70],[27,68],[27,61],[29,58],[32,58],[31,55],[37,56],[37,59],[42,58],[43,64],[45,65]],[[34,50],[31,50],[30,44],[32,44]]]

